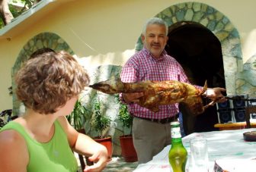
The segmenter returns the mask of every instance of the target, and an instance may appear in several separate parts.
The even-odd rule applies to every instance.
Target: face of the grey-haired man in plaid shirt
[[[165,30],[165,26],[150,24],[146,28],[146,35],[142,35],[142,42],[144,47],[147,48],[155,58],[160,57],[168,41],[166,32],[167,30]]]

